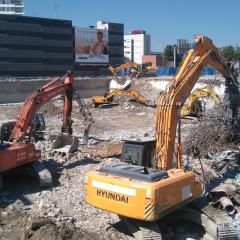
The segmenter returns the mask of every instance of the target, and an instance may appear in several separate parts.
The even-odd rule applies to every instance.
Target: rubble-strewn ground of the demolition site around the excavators
[[[147,80],[135,80],[132,90],[156,101],[159,90]],[[116,97],[119,106],[91,108],[92,113],[88,145],[82,141],[84,123],[74,103],[73,130],[80,139],[79,151],[69,156],[53,152],[52,141],[61,131],[61,100],[42,107],[47,130],[45,141],[36,143],[42,150],[42,159],[53,175],[53,186],[40,189],[30,177],[9,174],[3,178],[0,192],[0,239],[129,239],[125,225],[119,217],[88,205],[84,200],[85,173],[105,164],[120,161],[121,141],[129,138],[154,137],[156,109]],[[0,106],[0,119],[14,119],[20,105]],[[183,132],[194,127],[198,120],[184,120]],[[185,133],[184,133],[185,134]],[[199,163],[196,163],[199,165]],[[203,239],[203,231],[189,222],[161,224],[166,239]]]

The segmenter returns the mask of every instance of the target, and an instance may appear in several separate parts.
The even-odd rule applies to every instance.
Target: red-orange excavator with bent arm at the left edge
[[[69,72],[62,78],[54,78],[39,88],[24,102],[9,141],[0,143],[0,177],[6,171],[21,166],[30,167],[40,186],[51,185],[51,174],[44,168],[40,150],[35,149],[32,135],[39,108],[54,97],[64,93],[63,125],[61,139],[67,143],[72,138],[72,98],[74,75]]]

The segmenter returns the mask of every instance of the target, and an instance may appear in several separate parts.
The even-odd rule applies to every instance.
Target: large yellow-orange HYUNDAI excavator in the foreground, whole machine
[[[194,44],[194,49],[188,52],[175,79],[160,95],[156,146],[153,147],[151,141],[128,142],[128,148],[124,150],[124,162],[103,166],[86,175],[86,201],[96,208],[124,217],[129,225],[137,225],[140,239],[162,239],[161,231],[156,231],[154,222],[193,202],[203,193],[203,185],[196,179],[194,172],[182,165],[178,123],[181,108],[204,66],[209,64],[225,77],[226,93],[232,101],[229,86],[234,82],[233,75],[222,54],[205,36],[196,36]],[[179,131],[176,144],[177,125]],[[138,158],[144,157],[141,161],[143,166],[131,164],[131,160],[137,162]],[[156,169],[149,168],[151,159],[155,160]],[[213,209],[201,211],[205,218],[198,219],[202,220],[201,224],[214,239],[235,239],[231,219],[223,220],[222,213],[213,213]]]

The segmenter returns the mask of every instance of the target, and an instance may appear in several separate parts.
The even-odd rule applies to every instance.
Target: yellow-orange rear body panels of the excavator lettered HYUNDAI
[[[155,221],[202,193],[194,173],[181,169],[167,171],[168,178],[145,182],[101,173],[86,175],[86,201],[94,207],[121,216]]]

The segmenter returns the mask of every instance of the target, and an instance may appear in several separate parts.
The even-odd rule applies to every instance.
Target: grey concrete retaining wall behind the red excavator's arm
[[[2,80],[0,81],[0,104],[24,102],[30,94],[49,81],[49,78]],[[82,98],[102,96],[108,90],[109,81],[109,78],[77,78],[75,89],[80,91]]]

